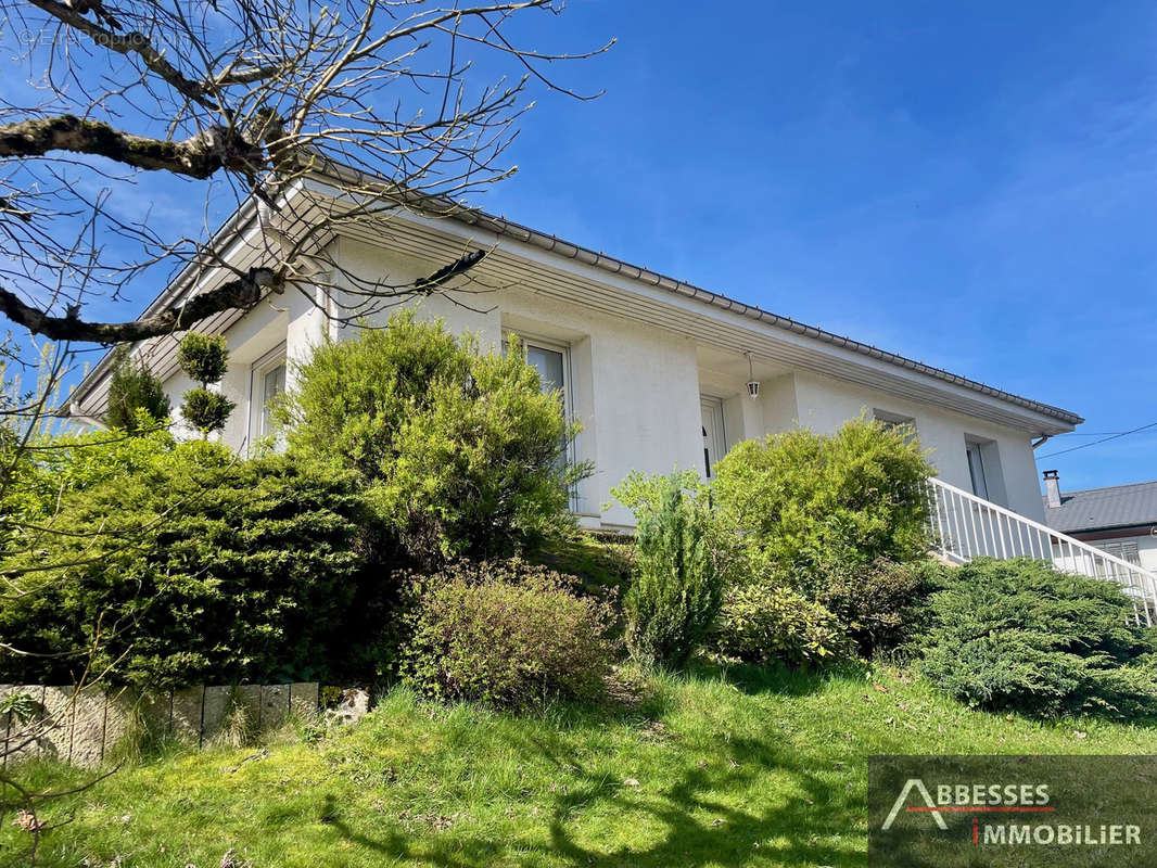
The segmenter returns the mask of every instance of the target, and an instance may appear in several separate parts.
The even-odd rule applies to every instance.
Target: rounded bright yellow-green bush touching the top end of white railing
[[[801,428],[746,441],[716,468],[717,532],[739,543],[752,579],[815,596],[825,564],[923,556],[931,472],[904,431],[863,418],[833,436]]]

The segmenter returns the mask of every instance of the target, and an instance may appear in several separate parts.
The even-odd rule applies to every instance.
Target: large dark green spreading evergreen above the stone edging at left
[[[36,567],[0,599],[0,635],[47,655],[0,655],[0,679],[67,683],[89,663],[115,684],[257,679],[345,645],[360,568],[348,477],[193,442],[80,478],[57,532],[0,564]]]

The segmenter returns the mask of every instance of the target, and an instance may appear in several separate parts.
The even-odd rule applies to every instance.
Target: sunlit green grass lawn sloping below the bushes
[[[863,866],[872,753],[1157,753],[1157,726],[970,711],[896,670],[663,676],[518,716],[397,689],[314,743],[174,752],[54,802],[46,865]],[[243,762],[246,757],[251,758]],[[74,771],[29,766],[66,788]],[[5,817],[3,853],[27,841]],[[116,861],[116,860],[121,861]],[[87,860],[87,861],[86,861]]]

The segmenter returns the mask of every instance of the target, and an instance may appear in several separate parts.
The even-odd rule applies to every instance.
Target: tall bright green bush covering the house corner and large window
[[[377,522],[428,567],[506,556],[573,525],[568,425],[516,339],[506,355],[412,311],[319,346],[277,415],[290,455],[359,475]]]

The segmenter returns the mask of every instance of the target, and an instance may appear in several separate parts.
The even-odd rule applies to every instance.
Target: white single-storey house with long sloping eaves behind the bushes
[[[308,185],[315,199],[334,194],[324,179]],[[246,206],[216,243],[227,262],[245,269],[260,262],[263,237],[258,209]],[[411,209],[379,230],[349,227],[331,244],[341,266],[332,278],[337,284],[346,271],[415,280],[464,250],[491,251],[470,274],[501,288],[462,294],[464,304],[439,295],[413,303],[455,332],[474,332],[484,348],[501,351],[509,333],[524,338],[544,384],[562,389],[567,412],[583,426],[574,458],[592,462],[595,475],[580,484],[575,509],[588,527],[633,523],[622,507],[602,506],[631,470],[695,468],[710,476],[742,440],[794,426],[832,432],[861,413],[913,425],[942,479],[1039,521],[1033,441],[1083,421],[477,211],[432,216]],[[148,310],[213,287],[222,279],[219,271],[186,270]],[[294,360],[308,358],[322,340],[356,333],[325,314],[341,303],[334,297],[341,292],[286,293],[274,303],[197,325],[223,332],[229,343],[230,368],[221,387],[237,410],[223,442],[243,450],[263,436],[266,400],[293,388]],[[177,369],[177,337],[139,348],[175,407],[191,387]],[[104,413],[108,378],[105,359],[75,392],[78,414]]]

